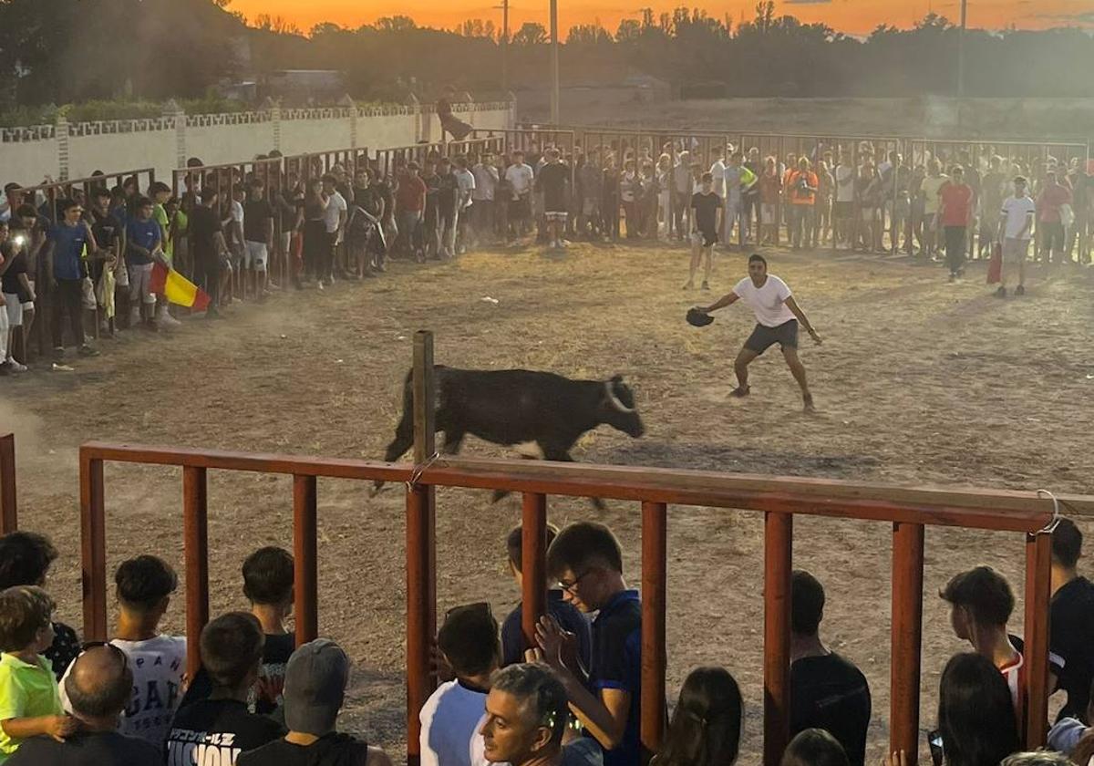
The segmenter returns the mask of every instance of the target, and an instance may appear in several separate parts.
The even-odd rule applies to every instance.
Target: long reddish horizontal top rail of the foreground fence
[[[159,465],[300,474],[350,479],[407,480],[412,466],[377,461],[246,454],[89,442],[100,460]],[[808,513],[847,519],[1033,532],[1051,520],[1051,502],[1034,492],[892,487],[837,479],[771,477],[709,471],[601,466],[550,461],[444,460],[420,483],[572,497],[648,500],[682,506]],[[1074,515],[1094,517],[1094,497],[1059,496]]]

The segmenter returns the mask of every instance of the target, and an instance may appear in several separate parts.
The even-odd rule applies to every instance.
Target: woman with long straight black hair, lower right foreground
[[[1017,752],[1011,690],[991,660],[950,658],[939,688],[939,734],[946,766],[996,766]]]

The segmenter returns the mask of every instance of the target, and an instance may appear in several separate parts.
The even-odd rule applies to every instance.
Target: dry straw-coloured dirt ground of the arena
[[[430,328],[439,362],[551,370],[635,385],[647,436],[601,429],[575,450],[585,462],[866,479],[899,485],[1090,491],[1094,430],[1094,271],[1036,274],[1029,294],[1000,301],[982,265],[947,285],[936,266],[828,252],[770,254],[824,337],[803,345],[819,411],[805,416],[778,353],[757,361],[754,395],[730,401],[732,358],[752,328],[734,306],[696,329],[684,313],[744,275],[720,253],[714,293],[684,292],[686,255],[668,246],[528,248],[453,264],[395,264],[383,279],[323,294],[237,306],[229,321],[185,322],[172,335],[103,340],[74,372],[0,384],[0,430],[19,439],[21,522],[61,550],[50,588],[80,624],[75,449],[84,440],[379,459],[400,406],[410,336]],[[486,301],[486,298],[497,300]],[[804,340],[804,337],[803,337]],[[472,454],[501,454],[472,440]],[[109,466],[110,568],[151,552],[182,571],[181,472]],[[503,570],[515,498],[442,490],[439,610],[488,599],[499,617],[517,592]],[[212,608],[245,606],[240,565],[288,545],[287,478],[213,474]],[[403,495],[369,498],[349,481],[319,485],[321,629],[356,663],[347,728],[404,748]],[[640,577],[637,504],[597,513],[552,499],[559,524],[600,518]],[[1083,522],[1091,533],[1092,525]],[[700,663],[729,666],[747,705],[746,764],[758,763],[763,711],[761,519],[673,508],[670,514],[670,694]],[[988,562],[1020,591],[1019,535],[931,529],[927,535],[922,722],[934,721],[945,659],[964,647],[935,595],[962,568]],[[887,735],[889,530],[801,518],[795,566],[828,591],[829,646],[857,662],[873,692],[873,753]],[[182,596],[168,629],[183,624]],[[1021,627],[1021,607],[1015,612]]]

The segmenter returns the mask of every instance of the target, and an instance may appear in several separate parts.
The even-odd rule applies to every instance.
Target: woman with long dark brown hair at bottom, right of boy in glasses
[[[724,668],[696,668],[684,682],[653,766],[731,766],[741,750],[741,689]]]

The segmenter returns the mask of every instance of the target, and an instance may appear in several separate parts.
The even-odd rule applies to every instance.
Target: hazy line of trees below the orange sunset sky
[[[493,20],[453,30],[389,16],[354,30],[304,32],[261,15],[247,25],[231,0],[0,0],[0,100],[9,104],[88,98],[193,97],[240,74],[337,69],[366,100],[432,97],[447,84],[499,92],[544,86],[549,40],[525,23],[504,38]],[[563,82],[614,82],[642,72],[676,93],[728,96],[948,95],[957,88],[961,31],[931,13],[913,27],[881,25],[864,37],[779,15],[770,0],[734,24],[701,9],[644,9],[616,30],[571,27],[561,46]],[[1076,28],[1016,28],[964,35],[969,96],[1094,96],[1094,36]]]

